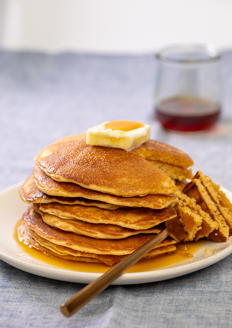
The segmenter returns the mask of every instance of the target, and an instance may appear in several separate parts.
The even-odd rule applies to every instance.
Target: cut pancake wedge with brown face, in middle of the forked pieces
[[[218,222],[218,228],[209,234],[208,239],[212,239],[216,242],[227,241],[229,237],[229,227],[200,180],[193,179],[189,182],[184,187],[183,193],[189,197],[195,198],[196,203],[200,205],[202,210],[207,212],[212,219]]]

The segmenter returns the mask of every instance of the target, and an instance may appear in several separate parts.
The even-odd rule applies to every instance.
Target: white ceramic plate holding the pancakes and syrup
[[[19,249],[17,242],[13,238],[13,232],[16,223],[28,206],[18,195],[20,185],[19,183],[0,193],[0,258],[18,269],[41,277],[80,283],[90,283],[99,277],[100,273],[77,272],[55,268],[34,259]],[[222,187],[221,189],[232,201],[232,192]],[[217,254],[210,253],[211,255],[205,257],[205,248],[216,249]],[[179,277],[212,265],[231,253],[232,236],[229,237],[226,243],[206,241],[200,251],[194,254],[193,258],[184,259],[165,269],[125,273],[117,278],[113,284],[138,284]]]

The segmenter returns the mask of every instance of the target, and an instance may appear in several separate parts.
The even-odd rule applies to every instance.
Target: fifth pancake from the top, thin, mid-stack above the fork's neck
[[[37,205],[38,206],[38,205]],[[34,208],[36,211],[36,209]],[[37,211],[36,211],[37,212]],[[37,212],[38,213],[38,212]],[[161,225],[147,230],[133,230],[117,226],[115,224],[89,223],[81,220],[61,219],[58,216],[48,213],[39,213],[45,223],[50,227],[55,227],[64,231],[71,231],[74,234],[89,236],[101,239],[121,239],[137,234],[158,234],[164,228]]]

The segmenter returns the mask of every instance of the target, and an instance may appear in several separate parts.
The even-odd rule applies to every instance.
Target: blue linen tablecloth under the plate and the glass
[[[149,123],[152,137],[188,153],[232,190],[232,52],[223,54],[223,112],[215,131],[164,132],[154,120],[152,55],[46,55],[0,52],[0,189],[25,180],[33,156],[66,135],[103,121]],[[7,218],[6,218],[7,219]],[[60,304],[84,287],[38,277],[0,261],[0,327],[231,327],[232,255],[182,277],[110,286],[71,318]]]

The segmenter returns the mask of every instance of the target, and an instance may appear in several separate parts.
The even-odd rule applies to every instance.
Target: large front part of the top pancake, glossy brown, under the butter
[[[85,134],[65,137],[34,157],[56,181],[121,196],[169,195],[172,180],[141,156],[116,148],[87,145]]]

